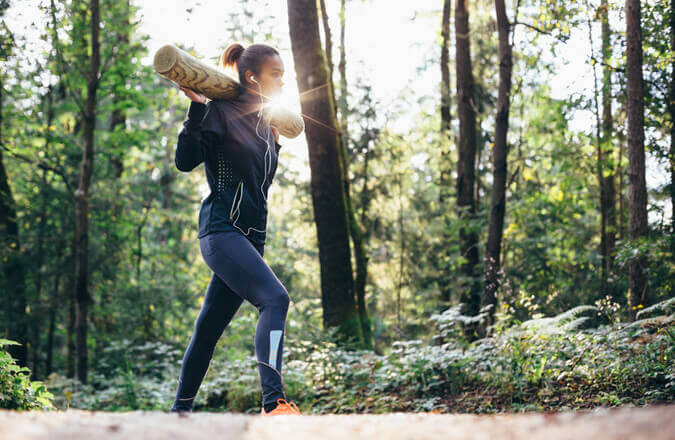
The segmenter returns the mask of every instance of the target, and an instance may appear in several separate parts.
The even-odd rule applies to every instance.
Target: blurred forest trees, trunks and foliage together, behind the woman
[[[0,1],[2,333],[34,379],[96,387],[114,376],[123,400],[141,405],[172,394],[159,378],[172,377],[210,276],[196,244],[205,179],[173,163],[189,102],[150,67],[140,11],[151,6],[34,3],[29,25],[26,4]],[[381,2],[289,0],[285,16],[254,3],[204,35],[221,49],[240,40],[285,52],[286,88],[297,86],[306,116],[301,139],[280,142],[265,252],[292,298],[288,386],[330,389],[331,347],[340,362],[352,350],[412,356],[401,347],[475,342],[580,305],[630,325],[673,298],[672,2],[420,5],[410,21],[435,25],[387,60],[416,73],[385,98],[373,91],[385,79],[345,39],[394,26]],[[189,19],[208,7],[182,9]],[[350,8],[380,8],[382,22],[357,29]],[[566,61],[584,66],[578,81],[591,88],[561,98],[556,57],[577,35],[588,50]],[[175,38],[202,59],[219,55]],[[434,91],[420,92],[430,72]],[[216,362],[248,365],[256,319],[253,307],[238,312]],[[544,358],[531,364],[539,380]],[[217,406],[224,397],[209,387],[229,380],[242,388],[228,404],[245,408],[255,370],[236,380],[216,370],[204,403]],[[452,389],[443,371],[434,380]],[[157,378],[154,394],[133,394],[139,376]]]

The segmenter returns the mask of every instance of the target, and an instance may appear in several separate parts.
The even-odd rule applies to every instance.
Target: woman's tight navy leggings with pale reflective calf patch
[[[224,231],[200,238],[199,247],[213,274],[183,356],[171,411],[192,410],[216,343],[244,299],[259,312],[255,351],[262,403],[285,399],[281,361],[290,297],[262,258],[264,245],[252,243],[238,231]]]

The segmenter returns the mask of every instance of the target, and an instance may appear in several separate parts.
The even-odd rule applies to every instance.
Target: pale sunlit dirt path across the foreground
[[[0,410],[0,439],[675,439],[675,405],[499,414]]]

